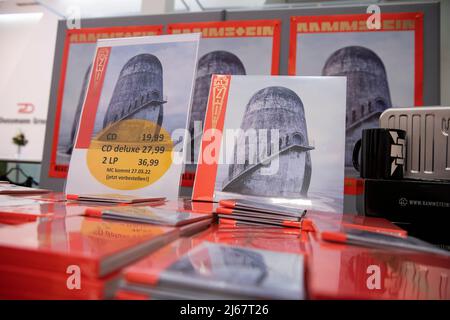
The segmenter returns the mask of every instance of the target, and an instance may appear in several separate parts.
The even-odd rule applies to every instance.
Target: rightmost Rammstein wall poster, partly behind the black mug
[[[352,151],[365,128],[391,107],[422,101],[423,14],[384,13],[368,29],[367,14],[291,18],[289,74],[346,76],[346,186],[358,176]],[[369,26],[371,26],[369,24]]]

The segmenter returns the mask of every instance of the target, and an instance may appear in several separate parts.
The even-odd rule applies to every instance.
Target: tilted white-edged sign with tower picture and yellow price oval
[[[178,197],[199,39],[97,42],[67,194]]]

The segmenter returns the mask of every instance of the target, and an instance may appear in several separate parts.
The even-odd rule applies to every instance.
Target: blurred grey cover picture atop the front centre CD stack
[[[302,255],[204,242],[164,270],[159,286],[302,299],[303,272]]]

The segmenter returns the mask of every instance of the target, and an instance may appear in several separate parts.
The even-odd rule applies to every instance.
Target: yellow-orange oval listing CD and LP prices
[[[113,189],[134,190],[160,179],[172,165],[173,141],[156,123],[123,120],[91,141],[87,164],[92,176]]]

